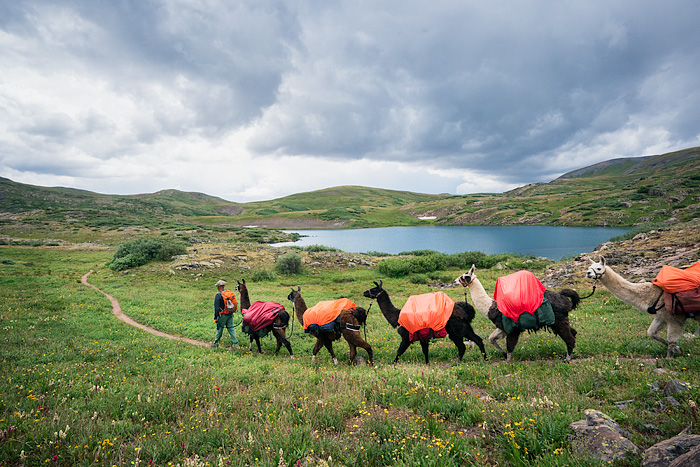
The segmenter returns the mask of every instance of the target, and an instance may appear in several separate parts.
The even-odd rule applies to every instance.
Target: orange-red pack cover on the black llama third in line
[[[411,295],[401,308],[399,324],[411,333],[428,328],[440,331],[445,329],[454,306],[445,292]]]

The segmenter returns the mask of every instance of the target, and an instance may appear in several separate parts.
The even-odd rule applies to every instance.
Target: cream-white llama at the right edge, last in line
[[[605,264],[603,256],[600,257],[598,263],[590,258],[589,260],[591,266],[586,271],[586,276],[589,279],[599,280],[611,294],[641,312],[656,312],[654,320],[647,329],[647,336],[667,347],[666,358],[682,355],[683,352],[678,346],[678,340],[683,335],[683,327],[687,318],[685,315],[672,315],[666,311],[661,287],[651,282],[628,282]],[[694,319],[700,321],[700,316],[696,316]],[[666,339],[658,335],[659,331],[664,328],[666,328]]]

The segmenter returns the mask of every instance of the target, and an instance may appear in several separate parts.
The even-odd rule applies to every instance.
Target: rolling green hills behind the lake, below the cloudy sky
[[[195,233],[204,229],[230,234],[251,225],[277,229],[426,224],[634,226],[696,218],[698,200],[700,148],[690,148],[614,159],[506,193],[464,196],[340,186],[234,203],[178,190],[105,195],[0,178],[0,228],[6,235],[24,232],[31,236],[37,230],[66,228],[74,232],[145,228]],[[261,236],[271,239],[260,232],[254,235],[259,240]]]

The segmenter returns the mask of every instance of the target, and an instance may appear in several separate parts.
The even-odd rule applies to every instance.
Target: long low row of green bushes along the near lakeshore
[[[411,258],[389,258],[377,266],[380,273],[387,277],[406,277],[443,271],[452,268],[469,268],[475,264],[479,269],[489,269],[513,255],[487,255],[480,251],[467,251],[446,255],[435,251],[420,250]]]

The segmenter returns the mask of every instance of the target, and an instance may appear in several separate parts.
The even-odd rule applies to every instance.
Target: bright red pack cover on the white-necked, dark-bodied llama
[[[513,321],[521,314],[535,313],[542,305],[546,287],[530,271],[518,271],[496,279],[493,298],[501,313]]]

